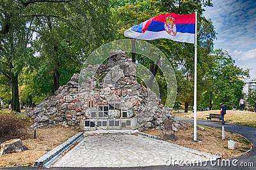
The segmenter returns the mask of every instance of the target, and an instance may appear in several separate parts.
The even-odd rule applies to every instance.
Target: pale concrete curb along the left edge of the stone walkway
[[[79,132],[69,138],[67,141],[57,146],[50,152],[45,153],[42,157],[35,161],[33,167],[46,167],[51,165],[54,160],[56,160],[62,153],[68,150],[71,146],[74,145],[79,139],[83,137],[83,132]]]

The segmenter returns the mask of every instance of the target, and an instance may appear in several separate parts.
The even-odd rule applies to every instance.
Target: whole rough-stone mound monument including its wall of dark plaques
[[[92,73],[95,73],[92,75]],[[136,64],[122,51],[111,53],[106,64],[88,66],[67,85],[47,97],[29,115],[36,126],[77,126],[96,129],[159,128],[169,108],[150,89],[138,83]]]

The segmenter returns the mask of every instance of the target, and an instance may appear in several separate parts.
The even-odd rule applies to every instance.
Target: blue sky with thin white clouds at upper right
[[[227,50],[236,65],[250,69],[256,78],[256,0],[212,0],[214,7],[205,8],[216,28],[214,49]]]

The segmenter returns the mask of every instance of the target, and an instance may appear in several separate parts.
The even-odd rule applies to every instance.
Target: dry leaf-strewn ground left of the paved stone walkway
[[[19,153],[0,155],[0,167],[31,166],[42,155],[60,145],[68,138],[77,134],[76,129],[65,127],[42,127],[36,130],[36,139],[33,139],[33,129],[28,129],[28,136],[22,139],[22,144],[28,150]],[[10,138],[1,138],[0,143]]]

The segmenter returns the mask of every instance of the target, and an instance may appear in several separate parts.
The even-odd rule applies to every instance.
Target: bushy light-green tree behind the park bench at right
[[[211,57],[212,65],[204,80],[208,87],[201,103],[207,101],[206,106],[214,108],[219,108],[220,103],[224,103],[232,108],[243,97],[244,82],[239,77],[249,76],[249,73],[236,66],[235,60],[227,51],[215,50]]]

